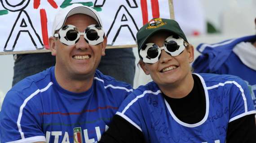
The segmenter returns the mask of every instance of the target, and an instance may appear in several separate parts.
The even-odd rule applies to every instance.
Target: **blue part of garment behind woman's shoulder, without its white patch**
[[[240,42],[255,42],[256,35],[231,39],[216,44],[200,44],[202,54],[193,63],[195,73],[216,73],[239,76],[247,83],[256,108],[256,71],[242,63],[232,51]],[[245,47],[246,48],[246,47]]]

